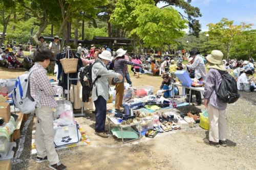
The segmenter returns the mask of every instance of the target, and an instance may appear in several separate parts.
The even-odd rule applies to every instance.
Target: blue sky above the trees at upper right
[[[202,31],[208,31],[208,23],[217,23],[223,17],[234,20],[234,25],[241,22],[252,23],[252,29],[256,29],[256,0],[192,0],[190,4],[200,9],[202,17],[197,19],[202,25]],[[164,5],[159,3],[158,7]]]

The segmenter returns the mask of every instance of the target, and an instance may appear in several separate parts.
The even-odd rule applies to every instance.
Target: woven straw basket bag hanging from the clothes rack
[[[65,58],[60,59],[60,63],[65,74],[77,72],[78,58],[74,58],[73,52],[71,52],[71,58],[67,58],[68,50],[66,50]]]

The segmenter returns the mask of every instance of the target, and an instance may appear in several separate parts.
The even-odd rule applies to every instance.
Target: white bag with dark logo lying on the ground
[[[78,143],[81,138],[81,132],[78,125],[69,125],[54,129],[54,145],[56,148]]]

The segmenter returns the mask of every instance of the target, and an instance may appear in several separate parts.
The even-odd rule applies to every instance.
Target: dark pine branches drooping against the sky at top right
[[[188,19],[188,27],[189,32],[196,37],[199,36],[199,33],[201,31],[201,25],[199,23],[198,19],[195,19],[197,17],[201,17],[202,14],[200,13],[200,9],[198,7],[191,6],[191,0],[154,0],[155,5],[157,5],[159,2],[165,2],[167,5],[162,7],[166,8],[168,6],[175,6],[179,7],[184,10],[184,12],[187,14],[187,16],[182,15],[179,13],[183,18]]]

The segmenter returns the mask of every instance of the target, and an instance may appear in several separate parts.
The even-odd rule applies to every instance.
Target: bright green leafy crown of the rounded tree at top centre
[[[184,35],[187,20],[172,7],[159,9],[151,4],[141,4],[132,12],[138,27],[131,31],[143,40],[146,46],[161,47],[174,43],[174,39]]]

